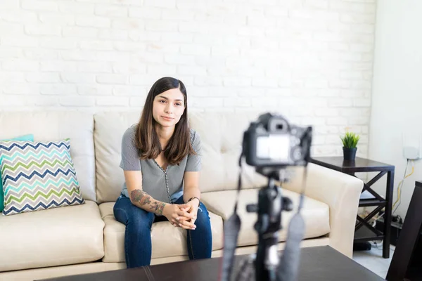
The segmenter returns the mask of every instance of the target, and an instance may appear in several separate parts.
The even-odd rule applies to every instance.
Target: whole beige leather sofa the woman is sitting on
[[[202,200],[210,211],[212,256],[222,255],[223,221],[231,215],[237,183],[241,138],[260,112],[191,112],[191,127],[200,133]],[[119,168],[120,141],[139,112],[2,112],[0,139],[34,133],[36,141],[71,139],[71,155],[86,204],[0,216],[0,280],[34,280],[125,268],[124,225],[115,221],[113,204],[124,177]],[[256,214],[245,205],[257,202],[267,179],[246,166],[241,191],[242,228],[237,254],[256,251]],[[283,186],[297,207],[302,174]],[[352,255],[354,222],[363,183],[357,178],[309,164],[302,247],[331,245]],[[283,213],[280,248],[292,214]],[[188,259],[186,233],[170,223],[153,225],[152,263]]]

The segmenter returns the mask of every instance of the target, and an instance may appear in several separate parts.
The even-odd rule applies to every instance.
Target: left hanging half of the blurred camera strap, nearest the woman
[[[242,157],[239,157],[239,178],[238,178],[238,189],[236,192],[236,202],[234,204],[234,212],[230,218],[224,223],[224,240],[223,240],[223,258],[220,264],[220,276],[221,281],[230,281],[233,270],[234,252],[236,251],[236,245],[238,240],[238,234],[241,230],[241,218],[237,214],[239,194],[242,188]]]

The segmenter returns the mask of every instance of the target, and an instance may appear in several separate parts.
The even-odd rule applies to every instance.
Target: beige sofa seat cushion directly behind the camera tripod
[[[250,246],[257,244],[258,236],[254,228],[257,221],[257,214],[248,213],[246,205],[257,203],[259,189],[241,190],[238,202],[238,215],[241,217],[241,231],[238,235],[238,246]],[[296,192],[283,189],[283,196],[289,197],[293,202],[293,211],[283,211],[281,223],[283,229],[279,233],[279,242],[286,241],[287,228],[290,218],[298,209],[300,195]],[[222,216],[226,221],[233,214],[236,190],[223,190],[205,192],[201,195],[201,200],[208,210]],[[301,214],[305,220],[304,239],[319,237],[330,232],[329,207],[323,202],[305,197]]]

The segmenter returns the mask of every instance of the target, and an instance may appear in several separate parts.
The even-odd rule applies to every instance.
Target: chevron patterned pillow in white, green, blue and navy
[[[70,157],[70,139],[0,141],[4,215],[84,204]]]

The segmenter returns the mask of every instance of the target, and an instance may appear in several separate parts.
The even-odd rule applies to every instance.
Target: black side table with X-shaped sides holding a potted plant
[[[326,168],[340,171],[351,176],[355,176],[354,173],[359,172],[373,172],[379,171],[379,173],[371,179],[368,183],[364,183],[365,190],[371,193],[373,197],[369,199],[359,200],[359,207],[373,207],[376,209],[371,211],[365,218],[357,216],[357,225],[354,228],[354,242],[366,242],[372,240],[383,240],[383,257],[388,259],[390,257],[390,224],[391,224],[391,208],[392,208],[392,192],[394,188],[394,171],[395,166],[376,162],[370,159],[364,159],[356,157],[354,162],[344,161],[343,157],[314,157],[311,160],[312,163],[325,166]],[[385,190],[385,199],[375,192],[371,185],[378,181],[382,176],[387,174],[387,188]],[[381,209],[385,207],[384,214],[384,232],[381,233],[376,230],[368,222],[369,220],[378,214]]]

